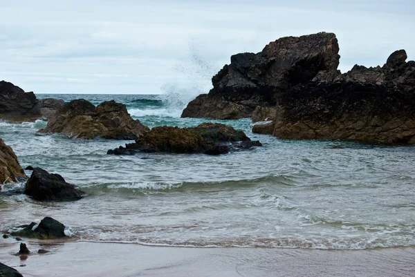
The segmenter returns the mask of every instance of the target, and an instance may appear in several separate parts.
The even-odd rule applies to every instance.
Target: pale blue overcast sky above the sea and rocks
[[[415,59],[415,1],[0,0],[0,80],[35,93],[208,93],[230,56],[334,32],[340,70]]]

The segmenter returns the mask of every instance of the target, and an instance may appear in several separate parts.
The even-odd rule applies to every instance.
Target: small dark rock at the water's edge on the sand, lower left
[[[24,236],[27,238],[52,239],[65,237],[65,225],[61,222],[46,217],[37,225],[35,222],[30,225],[21,226],[22,230],[12,232],[12,236]]]

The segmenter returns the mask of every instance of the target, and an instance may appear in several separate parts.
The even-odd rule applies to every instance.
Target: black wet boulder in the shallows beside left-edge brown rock
[[[24,193],[38,201],[73,201],[82,198],[83,191],[65,182],[61,175],[35,167]]]

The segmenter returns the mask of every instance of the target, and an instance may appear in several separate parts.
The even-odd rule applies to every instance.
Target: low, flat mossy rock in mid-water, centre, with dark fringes
[[[244,142],[237,143],[237,142]],[[135,143],[109,150],[108,154],[133,155],[135,151],[145,153],[205,153],[219,155],[234,148],[260,146],[252,142],[242,131],[224,124],[203,123],[194,128],[172,126],[154,127]]]

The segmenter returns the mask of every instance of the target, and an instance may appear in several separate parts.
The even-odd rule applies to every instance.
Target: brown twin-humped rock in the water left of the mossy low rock
[[[96,108],[84,99],[64,104],[48,121],[42,133],[64,133],[71,138],[104,137],[113,140],[136,140],[149,131],[133,120],[124,104],[106,101]]]

